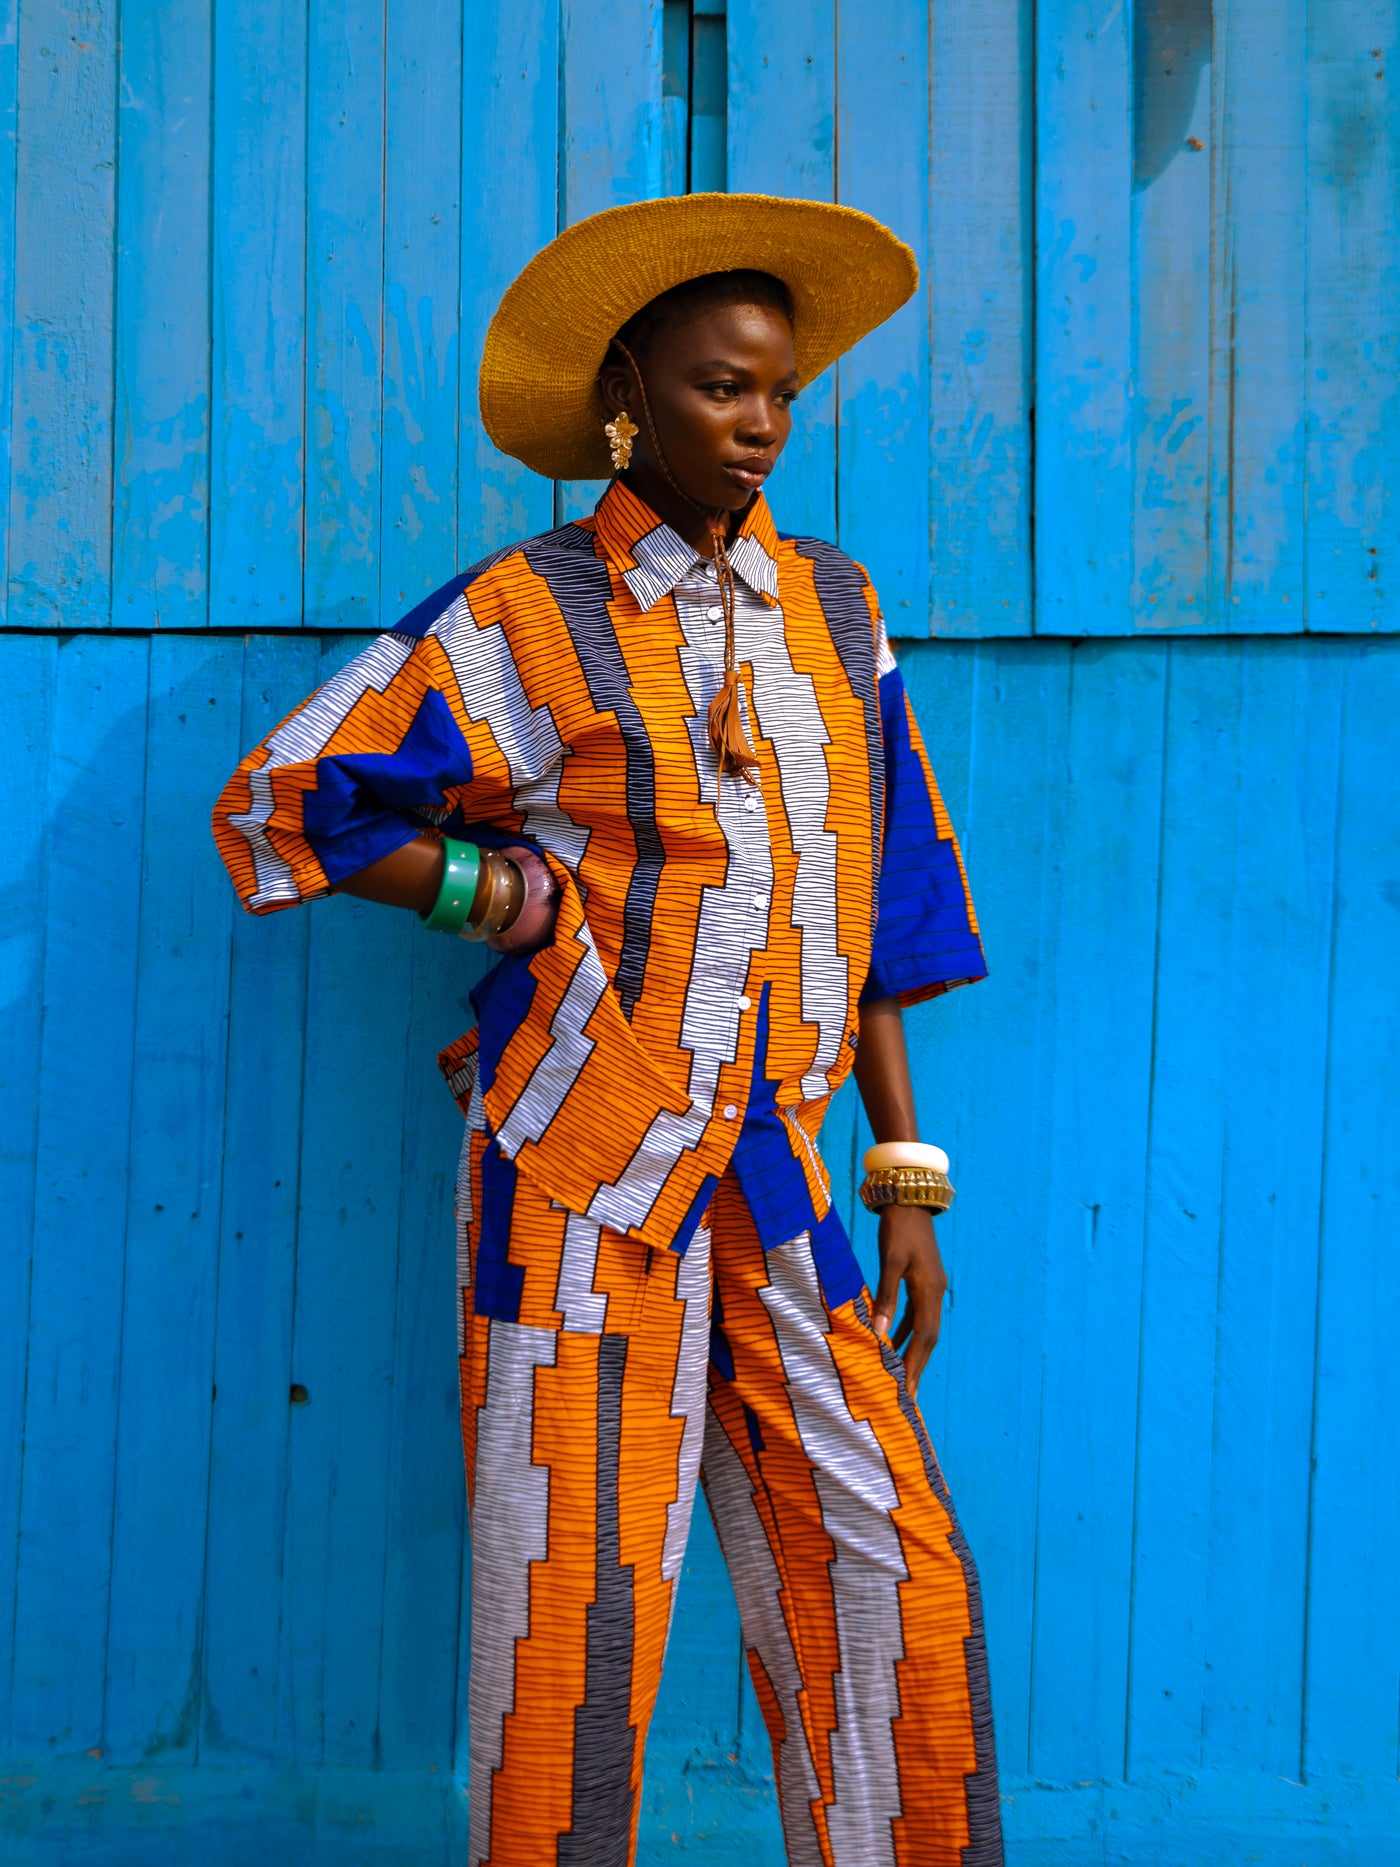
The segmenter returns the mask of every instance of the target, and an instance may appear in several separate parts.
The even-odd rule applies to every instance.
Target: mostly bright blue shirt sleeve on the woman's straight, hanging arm
[[[861,997],[918,1004],[986,978],[987,963],[963,853],[879,616],[875,631],[885,827],[875,943]]]

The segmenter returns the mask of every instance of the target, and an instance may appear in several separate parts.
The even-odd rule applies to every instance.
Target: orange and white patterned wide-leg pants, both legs
[[[685,1256],[470,1139],[470,1861],[629,1867],[702,1477],[799,1867],[1001,1863],[976,1572],[864,1294],[721,1182]]]

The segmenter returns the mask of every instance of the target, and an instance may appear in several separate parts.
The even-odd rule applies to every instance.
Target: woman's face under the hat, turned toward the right
[[[638,364],[657,439],[679,485],[700,506],[739,512],[791,433],[797,370],[788,319],[765,304],[693,312],[663,327]],[[601,388],[609,411],[625,409],[640,429],[627,482],[668,515],[674,495],[666,497],[637,379],[627,368],[609,366]]]

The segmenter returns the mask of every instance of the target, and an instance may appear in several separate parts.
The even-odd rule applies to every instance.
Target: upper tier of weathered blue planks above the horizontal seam
[[[308,4],[0,41],[11,625],[373,627],[586,508],[485,442],[489,314],[728,185],[918,254],[775,482],[900,633],[1400,627],[1387,0]]]

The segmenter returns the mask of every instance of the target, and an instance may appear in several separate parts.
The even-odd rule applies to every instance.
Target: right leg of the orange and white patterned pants
[[[704,1482],[788,1860],[999,1867],[976,1570],[902,1363],[864,1292],[827,1305],[806,1234],[762,1249],[732,1176],[709,1223]]]

